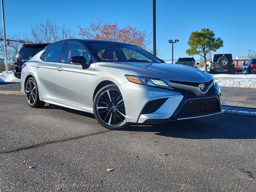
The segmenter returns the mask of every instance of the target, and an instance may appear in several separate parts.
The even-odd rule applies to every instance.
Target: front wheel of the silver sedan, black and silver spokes
[[[98,122],[110,130],[128,126],[122,94],[115,84],[102,87],[94,97],[94,116]]]

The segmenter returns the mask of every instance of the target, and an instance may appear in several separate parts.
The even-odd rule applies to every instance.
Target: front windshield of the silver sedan
[[[162,62],[152,54],[134,45],[100,41],[91,41],[88,44],[102,62]]]

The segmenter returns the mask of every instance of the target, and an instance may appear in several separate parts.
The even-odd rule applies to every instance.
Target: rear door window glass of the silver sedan
[[[61,53],[63,49],[64,42],[60,42],[57,44],[52,45],[49,48],[49,51],[46,55],[45,61],[49,62],[59,62],[61,58]]]

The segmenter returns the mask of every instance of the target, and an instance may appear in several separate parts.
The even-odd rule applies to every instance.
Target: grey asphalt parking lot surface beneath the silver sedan
[[[0,95],[0,109],[0,191],[256,190],[253,116],[109,131],[92,114],[30,108],[24,96]]]

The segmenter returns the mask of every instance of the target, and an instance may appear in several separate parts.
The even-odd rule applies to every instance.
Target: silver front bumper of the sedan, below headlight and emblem
[[[126,121],[134,122],[134,123],[154,123],[154,122],[167,122],[174,120],[182,120],[188,118],[198,118],[203,116],[210,116],[219,114],[222,112],[222,108],[220,105],[220,87],[218,84],[213,85],[214,92],[211,94],[207,94],[204,96],[186,96],[178,91],[166,90],[156,87],[150,87],[140,84],[135,84],[132,82],[126,82],[118,86],[120,89],[125,109],[126,109]],[[145,106],[153,100],[160,100],[165,98],[165,102],[157,108],[157,110],[145,114]],[[185,115],[180,116],[179,112],[185,106],[186,102],[190,100],[200,100],[212,98],[218,104],[218,109],[216,108],[214,111],[211,110],[202,110],[201,114],[196,113],[196,115]],[[204,106],[197,105],[198,108],[202,108]],[[200,110],[200,109],[199,109]],[[184,115],[184,114],[183,114]]]

